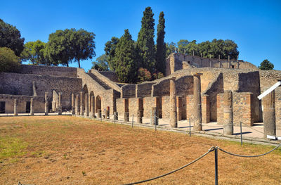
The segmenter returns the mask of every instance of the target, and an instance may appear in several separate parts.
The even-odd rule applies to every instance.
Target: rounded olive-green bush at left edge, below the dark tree
[[[18,72],[20,70],[20,58],[9,48],[0,48],[0,72]]]

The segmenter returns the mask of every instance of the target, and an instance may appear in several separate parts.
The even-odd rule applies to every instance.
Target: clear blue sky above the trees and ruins
[[[232,39],[240,59],[254,65],[268,59],[281,70],[281,1],[1,1],[0,18],[15,25],[25,42],[48,42],[48,34],[66,28],[94,32],[98,57],[105,42],[125,29],[137,39],[147,6],[155,14],[155,35],[164,11],[165,42]],[[81,68],[89,70],[95,59],[82,61]]]

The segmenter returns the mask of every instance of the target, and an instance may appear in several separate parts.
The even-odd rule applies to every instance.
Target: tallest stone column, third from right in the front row
[[[193,75],[193,130],[195,131],[202,130],[201,75],[202,73],[196,73]]]

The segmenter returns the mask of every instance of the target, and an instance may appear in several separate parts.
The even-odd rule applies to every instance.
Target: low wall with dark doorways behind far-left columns
[[[19,96],[10,94],[0,94],[0,102],[5,102],[5,113],[13,113],[14,100],[18,99],[18,113],[30,113],[27,112],[27,102],[34,98],[34,113],[44,113],[45,111],[45,97],[44,96]],[[30,107],[29,107],[30,108]]]

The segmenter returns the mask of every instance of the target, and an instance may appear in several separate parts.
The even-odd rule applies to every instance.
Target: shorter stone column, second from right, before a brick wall
[[[225,91],[223,94],[223,134],[233,135],[233,93]]]

